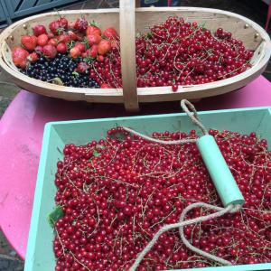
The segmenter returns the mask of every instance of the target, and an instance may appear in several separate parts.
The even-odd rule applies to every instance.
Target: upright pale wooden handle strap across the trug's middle
[[[119,33],[124,104],[127,111],[138,111],[135,66],[135,0],[119,1]]]

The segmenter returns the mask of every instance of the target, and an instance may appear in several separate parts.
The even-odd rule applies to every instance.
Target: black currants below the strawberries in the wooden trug
[[[22,72],[34,79],[40,79],[54,83],[54,79],[59,78],[64,86],[76,88],[98,89],[98,82],[89,79],[89,72],[81,74],[74,72],[81,59],[70,59],[66,54],[58,53],[53,60],[41,56],[40,59]]]

